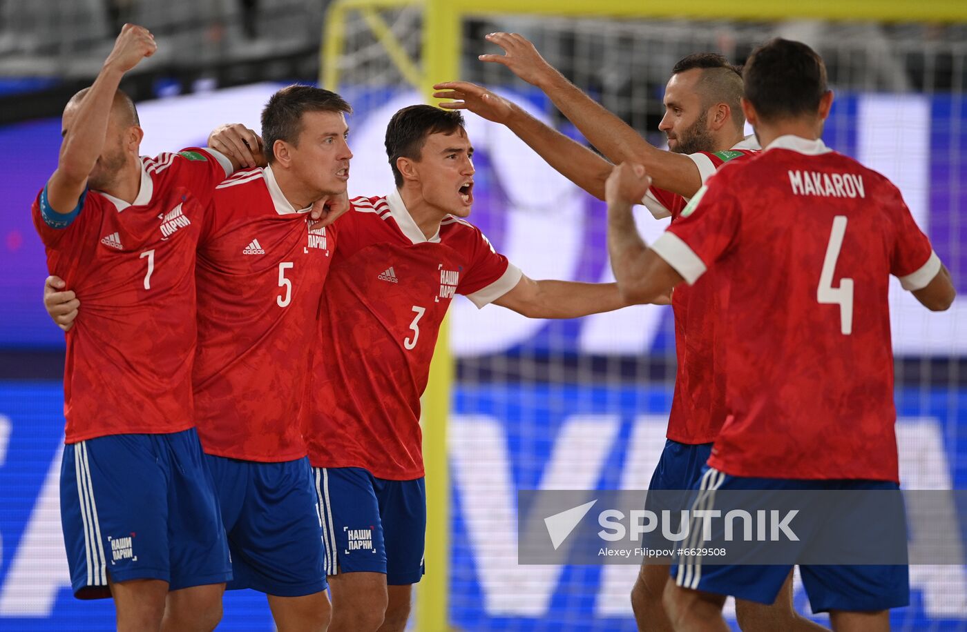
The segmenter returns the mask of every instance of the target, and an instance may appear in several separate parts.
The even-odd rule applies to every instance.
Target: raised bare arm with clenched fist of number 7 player
[[[142,59],[155,54],[156,49],[155,39],[147,29],[133,24],[125,24],[121,29],[91,90],[64,129],[57,169],[46,189],[47,204],[55,213],[73,213],[103,151],[107,120],[121,77]]]

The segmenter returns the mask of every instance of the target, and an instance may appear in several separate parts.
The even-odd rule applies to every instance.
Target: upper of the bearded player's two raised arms
[[[486,36],[486,40],[503,48],[504,54],[481,55],[481,61],[506,66],[524,81],[540,88],[561,113],[609,160],[615,164],[641,164],[656,187],[685,197],[691,197],[702,186],[698,167],[691,159],[682,154],[660,150],[642,138],[627,123],[557,72],[543,59],[534,44],[523,36],[516,33],[491,33]]]

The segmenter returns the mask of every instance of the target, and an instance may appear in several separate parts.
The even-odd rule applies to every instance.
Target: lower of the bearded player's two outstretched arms
[[[439,91],[433,94],[435,98],[455,100],[440,103],[440,107],[470,110],[487,121],[507,126],[565,178],[598,199],[604,199],[604,181],[612,165],[587,147],[544,125],[516,103],[477,84],[448,81],[434,85],[433,89]]]

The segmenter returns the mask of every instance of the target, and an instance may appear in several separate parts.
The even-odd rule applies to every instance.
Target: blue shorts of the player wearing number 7
[[[108,577],[162,580],[172,590],[231,579],[219,503],[194,428],[65,445],[60,483],[77,598],[111,596]]]

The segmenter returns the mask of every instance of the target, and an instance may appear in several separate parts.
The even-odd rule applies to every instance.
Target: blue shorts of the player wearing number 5
[[[206,454],[228,533],[228,589],[299,597],[326,589],[308,458],[281,463]]]

